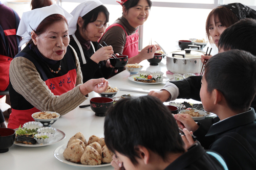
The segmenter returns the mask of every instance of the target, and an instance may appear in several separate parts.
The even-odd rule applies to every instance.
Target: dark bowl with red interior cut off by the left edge
[[[9,151],[15,140],[15,130],[0,128],[0,153]]]

